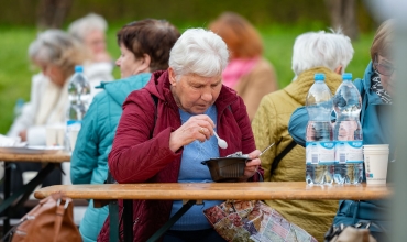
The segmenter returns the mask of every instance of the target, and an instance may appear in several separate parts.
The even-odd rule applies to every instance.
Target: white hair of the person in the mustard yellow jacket
[[[332,33],[308,32],[299,35],[294,43],[292,69],[296,77],[307,69],[320,66],[331,70],[342,66],[343,73],[353,53],[351,40],[340,30]]]

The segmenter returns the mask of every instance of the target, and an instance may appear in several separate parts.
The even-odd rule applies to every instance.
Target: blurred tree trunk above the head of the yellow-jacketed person
[[[356,40],[359,37],[356,0],[324,0],[324,2],[333,30],[342,29],[345,35]]]

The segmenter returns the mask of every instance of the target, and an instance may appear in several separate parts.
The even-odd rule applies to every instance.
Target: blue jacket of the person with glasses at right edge
[[[394,138],[396,130],[393,129],[394,124],[392,123],[392,106],[383,103],[382,99],[374,91],[371,90],[371,77],[373,73],[374,69],[372,63],[370,63],[365,70],[363,79],[356,79],[354,81],[354,85],[361,92],[363,100],[361,111],[363,143],[389,144],[389,161],[393,161],[396,144],[393,142],[392,138]],[[305,107],[301,107],[294,111],[288,123],[289,134],[298,144],[302,146],[305,146],[306,142],[305,132],[307,122],[307,110]],[[387,182],[392,182],[392,167],[393,163],[389,163]],[[377,238],[381,238],[381,235],[375,234],[375,232],[387,230],[389,228],[388,219],[386,218],[386,213],[388,212],[388,201],[386,200],[364,200],[360,202],[352,200],[341,200],[339,202],[338,213],[333,222],[352,224],[358,221],[369,220],[371,222],[374,222],[374,224],[371,227],[373,235],[377,235]],[[355,216],[355,219],[353,219],[353,216]]]

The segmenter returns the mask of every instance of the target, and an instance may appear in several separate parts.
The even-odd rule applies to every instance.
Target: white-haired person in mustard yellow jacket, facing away
[[[351,40],[340,32],[309,32],[296,38],[292,62],[295,74],[293,82],[282,90],[266,95],[252,122],[258,150],[276,143],[261,157],[265,180],[305,180],[305,148],[293,143],[288,133],[289,118],[296,108],[305,105],[306,94],[315,82],[316,73],[323,73],[326,84],[331,92],[336,92],[353,53]],[[278,163],[276,157],[283,153],[286,155]],[[273,166],[276,168],[271,174]],[[329,200],[267,200],[266,204],[318,241],[323,241],[323,234],[338,208],[338,201]]]

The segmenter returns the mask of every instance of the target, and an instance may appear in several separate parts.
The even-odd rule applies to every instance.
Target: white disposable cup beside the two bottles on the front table
[[[367,185],[386,184],[388,144],[363,145]]]

